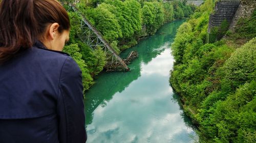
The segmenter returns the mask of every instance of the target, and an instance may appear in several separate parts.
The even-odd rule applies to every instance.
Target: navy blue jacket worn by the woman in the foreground
[[[81,71],[37,42],[0,65],[1,143],[84,143]]]

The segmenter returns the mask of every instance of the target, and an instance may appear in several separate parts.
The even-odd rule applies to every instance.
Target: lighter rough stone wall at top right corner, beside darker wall
[[[234,31],[234,28],[236,27],[238,20],[242,17],[244,18],[250,16],[255,8],[256,0],[242,0],[236,14],[234,14],[232,18],[229,30]]]

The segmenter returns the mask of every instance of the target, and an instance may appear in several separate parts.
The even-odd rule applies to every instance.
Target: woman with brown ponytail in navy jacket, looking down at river
[[[85,142],[81,71],[55,0],[0,4],[0,142]]]

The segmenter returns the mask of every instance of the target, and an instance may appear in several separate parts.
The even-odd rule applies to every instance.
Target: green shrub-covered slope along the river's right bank
[[[169,81],[198,126],[199,142],[256,142],[256,10],[234,32],[224,21],[216,27],[220,38],[208,43],[214,6],[206,0],[179,27]]]

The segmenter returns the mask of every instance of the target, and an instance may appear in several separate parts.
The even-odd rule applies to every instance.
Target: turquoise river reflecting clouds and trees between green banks
[[[194,142],[197,136],[170,87],[170,45],[184,20],[163,25],[154,36],[125,50],[139,58],[130,72],[101,73],[86,92],[88,142]]]

